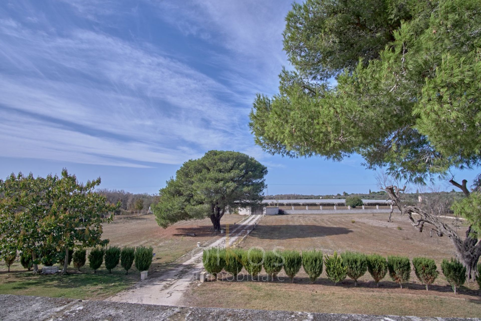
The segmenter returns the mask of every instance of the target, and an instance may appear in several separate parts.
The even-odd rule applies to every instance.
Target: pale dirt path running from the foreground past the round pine
[[[252,231],[262,215],[251,215],[231,229],[229,235],[221,237],[208,247],[224,247]],[[159,277],[137,283],[133,288],[109,297],[106,301],[129,303],[181,305],[183,291],[197,280],[203,270],[202,252],[193,255],[184,263],[166,270]]]

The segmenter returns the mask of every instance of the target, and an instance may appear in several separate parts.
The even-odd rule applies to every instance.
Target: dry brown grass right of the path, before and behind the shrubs
[[[397,254],[410,259],[425,256],[436,260],[438,270],[441,270],[443,258],[455,256],[447,237],[431,238],[429,232],[419,233],[406,217],[399,214],[393,215],[393,220],[387,222],[387,214],[266,216],[240,245],[245,249],[252,246],[266,250],[276,246],[296,250],[318,249],[327,254],[335,250],[353,250],[383,256]],[[459,233],[464,235],[466,227],[458,225]],[[226,276],[224,274],[224,279],[220,281],[193,287],[186,294],[185,304],[329,313],[481,316],[481,296],[477,285],[467,282],[459,290],[460,294],[454,295],[442,274],[430,291],[418,282],[414,271],[403,289],[392,282],[389,275],[376,288],[368,273],[360,279],[358,287],[354,287],[350,279],[334,286],[325,272],[315,284],[311,284],[302,268],[294,283],[290,283],[283,273],[274,282],[229,282]]]

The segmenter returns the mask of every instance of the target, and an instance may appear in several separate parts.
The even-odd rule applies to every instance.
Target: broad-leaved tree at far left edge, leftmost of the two
[[[56,180],[52,175],[35,178],[32,173],[12,173],[0,180],[0,249],[31,253],[34,273],[52,239],[51,194]]]

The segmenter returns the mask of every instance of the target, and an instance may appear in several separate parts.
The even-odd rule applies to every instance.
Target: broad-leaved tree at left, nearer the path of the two
[[[68,266],[69,248],[75,246],[104,246],[102,224],[111,222],[118,205],[108,204],[105,196],[94,192],[100,185],[100,177],[86,184],[78,182],[75,175],[62,170],[62,176],[54,185],[52,195],[52,223],[55,223],[53,242],[65,251],[62,273]]]

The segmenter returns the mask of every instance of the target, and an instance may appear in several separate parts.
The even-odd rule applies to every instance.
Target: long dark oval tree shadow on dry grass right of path
[[[320,225],[258,225],[253,237],[268,240],[286,240],[329,235],[349,234],[353,231],[344,227]]]

